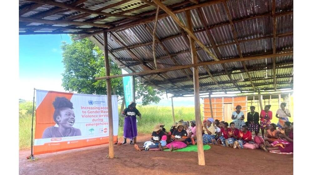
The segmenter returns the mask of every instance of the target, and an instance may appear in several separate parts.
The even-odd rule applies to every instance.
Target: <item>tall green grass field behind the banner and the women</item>
[[[267,103],[266,103],[267,104]],[[257,106],[257,103],[252,103],[252,105]],[[272,106],[270,109],[275,115],[277,109],[279,108],[277,104]],[[251,103],[248,103],[248,109],[251,106]],[[160,106],[141,106],[137,105],[138,110],[142,115],[142,119],[137,123],[138,133],[151,133],[154,125],[162,122],[165,124],[167,130],[173,124],[172,118],[172,107],[160,107]],[[201,117],[203,118],[203,108],[201,107]],[[290,121],[293,121],[293,99],[291,97],[291,111],[292,117]],[[118,110],[120,111],[120,109]],[[258,108],[256,108],[258,111]],[[31,139],[31,126],[32,126],[32,112],[33,112],[33,102],[23,102],[19,104],[19,148],[30,148],[30,139]],[[183,120],[194,120],[194,107],[174,107],[176,122],[180,119]],[[119,118],[119,130],[118,135],[123,135],[123,123],[124,119],[120,116]],[[278,118],[273,116],[271,122],[277,123]],[[35,127],[35,126],[34,126]],[[34,128],[35,129],[35,128]]]

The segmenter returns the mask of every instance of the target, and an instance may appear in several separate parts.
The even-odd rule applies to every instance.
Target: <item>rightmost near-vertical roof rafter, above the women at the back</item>
[[[273,53],[276,53],[276,0],[272,0],[272,22],[273,22]],[[274,90],[276,91],[276,57],[272,58],[274,74]]]

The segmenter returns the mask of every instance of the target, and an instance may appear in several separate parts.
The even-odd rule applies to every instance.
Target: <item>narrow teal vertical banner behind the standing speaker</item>
[[[122,74],[126,74],[124,69],[122,69]],[[124,97],[125,97],[125,106],[129,105],[130,102],[133,102],[133,77],[127,76],[123,77],[123,88],[124,88]]]

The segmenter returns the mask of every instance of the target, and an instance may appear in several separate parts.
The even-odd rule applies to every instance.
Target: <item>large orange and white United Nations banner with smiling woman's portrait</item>
[[[117,96],[112,95],[113,135],[117,139]],[[36,90],[34,154],[109,143],[106,95]]]

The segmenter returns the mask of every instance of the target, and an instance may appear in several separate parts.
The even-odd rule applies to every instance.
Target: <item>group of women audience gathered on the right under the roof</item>
[[[203,144],[222,145],[232,148],[244,148],[246,143],[254,143],[252,132],[255,132],[254,138],[258,138],[259,128],[262,131],[262,138],[266,129],[264,140],[259,145],[264,151],[274,152],[293,152],[293,123],[288,121],[287,117],[291,117],[288,109],[285,109],[285,103],[281,104],[281,108],[277,111],[276,117],[280,119],[278,122],[279,130],[275,123],[270,123],[272,112],[269,111],[270,105],[266,105],[264,110],[255,112],[255,107],[251,106],[251,112],[248,113],[247,122],[244,122],[244,114],[241,112],[241,106],[236,107],[233,112],[233,122],[208,118],[201,124],[202,142]],[[259,124],[260,120],[260,124]],[[157,150],[170,149],[170,151],[187,147],[187,145],[197,144],[196,122],[180,120],[174,123],[169,132],[164,128],[163,123],[157,124],[151,134],[151,140],[146,141],[142,147],[137,144],[135,148],[141,150]]]

